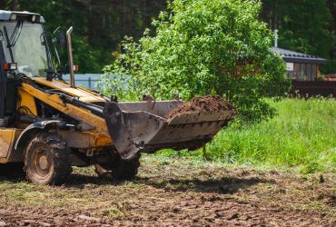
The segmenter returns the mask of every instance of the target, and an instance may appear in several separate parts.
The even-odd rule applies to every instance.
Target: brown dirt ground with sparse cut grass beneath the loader
[[[0,226],[336,226],[336,174],[145,155],[133,182],[75,169],[62,186],[0,177]]]

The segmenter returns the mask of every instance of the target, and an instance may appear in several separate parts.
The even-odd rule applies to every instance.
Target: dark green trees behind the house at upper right
[[[336,37],[331,6],[328,0],[262,0],[262,20],[279,29],[282,48],[332,59]],[[336,64],[324,67],[325,73],[335,70]]]

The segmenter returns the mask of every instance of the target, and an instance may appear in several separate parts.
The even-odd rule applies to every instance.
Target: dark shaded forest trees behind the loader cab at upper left
[[[44,28],[52,33],[74,26],[74,63],[81,73],[101,73],[114,61],[124,35],[140,38],[152,16],[165,7],[164,0],[5,0],[1,9],[30,11],[44,16]],[[63,64],[66,64],[64,51]]]

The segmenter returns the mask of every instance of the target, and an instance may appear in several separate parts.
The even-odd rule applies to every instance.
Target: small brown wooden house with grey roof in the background
[[[320,76],[320,65],[325,64],[327,59],[310,54],[302,54],[272,47],[272,51],[281,54],[287,65],[287,75],[297,81],[316,81]]]

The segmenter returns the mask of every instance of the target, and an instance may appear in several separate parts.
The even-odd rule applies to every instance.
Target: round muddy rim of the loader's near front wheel
[[[52,170],[52,158],[45,147],[38,146],[35,148],[29,167],[35,177],[40,180],[44,180],[49,176]]]

